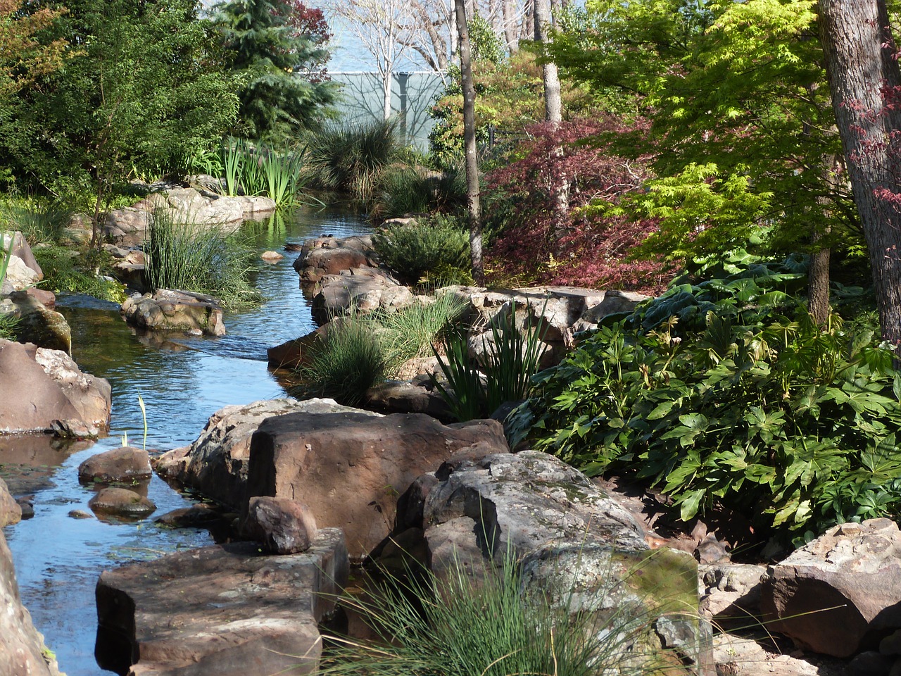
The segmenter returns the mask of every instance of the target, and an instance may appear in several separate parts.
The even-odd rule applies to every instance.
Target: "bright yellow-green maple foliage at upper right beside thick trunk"
[[[742,237],[751,224],[775,224],[766,233],[779,250],[804,248],[815,231],[860,242],[815,23],[813,0],[594,0],[578,30],[555,36],[551,57],[569,77],[632,92],[652,121],[650,133],[616,144],[656,153],[664,181],[636,202],[643,215],[664,216],[646,249],[690,257],[710,253],[711,242],[733,246],[728,233],[698,238],[711,224],[686,227],[678,215],[714,184],[732,187],[723,196],[739,208],[719,224]],[[751,206],[744,216],[742,204]]]

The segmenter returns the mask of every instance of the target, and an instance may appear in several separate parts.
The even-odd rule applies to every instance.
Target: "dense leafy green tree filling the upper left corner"
[[[0,164],[57,194],[176,169],[235,118],[232,78],[216,64],[195,0],[68,0],[35,39],[68,59],[22,87],[0,116]],[[27,9],[27,7],[25,8]]]

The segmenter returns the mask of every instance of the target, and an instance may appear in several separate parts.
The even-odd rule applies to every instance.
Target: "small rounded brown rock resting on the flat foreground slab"
[[[250,498],[241,532],[268,553],[296,554],[310,548],[316,521],[305,505],[287,498]]]

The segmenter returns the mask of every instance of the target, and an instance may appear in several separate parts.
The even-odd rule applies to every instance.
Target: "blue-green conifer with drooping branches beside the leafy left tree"
[[[291,5],[278,0],[232,0],[216,6],[215,23],[241,78],[241,136],[284,141],[315,127],[335,85],[300,74],[327,52],[290,22]]]

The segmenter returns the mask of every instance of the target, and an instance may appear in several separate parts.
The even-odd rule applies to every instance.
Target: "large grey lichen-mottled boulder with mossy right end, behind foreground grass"
[[[644,640],[677,651],[695,671],[705,669],[695,560],[651,550],[628,509],[551,455],[451,458],[401,498],[395,534],[382,553],[394,557],[401,543],[439,578],[463,570],[478,579],[512,559],[523,585],[542,589],[555,604],[589,612],[601,626],[631,612],[654,628]]]

